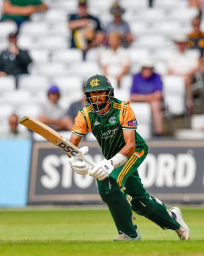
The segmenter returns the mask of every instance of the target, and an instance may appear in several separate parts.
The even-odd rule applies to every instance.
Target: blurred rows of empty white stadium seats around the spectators
[[[112,20],[109,13],[112,2],[113,0],[89,0],[90,13],[97,15],[103,26]],[[2,3],[3,1],[0,1],[0,6]],[[33,59],[29,68],[30,75],[22,75],[19,78],[18,90],[15,90],[13,77],[0,77],[0,104],[9,102],[11,106],[17,106],[18,113],[23,113],[23,109],[26,110],[25,104],[28,104],[28,110],[30,109],[34,116],[38,106],[35,108],[33,102],[41,104],[46,99],[46,90],[51,83],[60,87],[60,104],[66,109],[71,102],[81,98],[79,92],[82,90],[83,82],[93,74],[102,73],[98,61],[103,46],[89,50],[85,61],[79,49],[68,48],[71,31],[68,30],[67,20],[70,13],[76,12],[77,1],[45,0],[45,3],[49,9],[46,12],[32,14],[30,22],[24,23],[19,30],[18,46],[28,50]],[[121,79],[121,88],[117,88],[115,78],[109,77],[115,88],[115,96],[130,100],[132,75],[140,70],[141,61],[151,56],[155,70],[163,77],[166,108],[170,115],[184,115],[184,82],[181,77],[167,75],[166,62],[175,48],[172,38],[181,32],[191,31],[191,20],[198,14],[197,9],[188,7],[187,1],[183,0],[154,0],[153,8],[148,7],[148,1],[141,0],[125,0],[121,1],[121,5],[125,8],[124,20],[129,22],[135,40],[127,50],[132,65],[130,73]],[[7,35],[16,31],[15,22],[0,23],[0,51],[8,46]],[[9,92],[12,92],[13,101],[7,98]],[[23,97],[23,104],[20,105],[21,100],[18,97]],[[138,108],[140,106],[136,109]],[[152,132],[149,117],[148,114],[148,120],[143,121],[138,113],[138,118],[141,119],[138,120],[138,131],[142,129],[141,133],[145,133],[146,138],[149,138]],[[192,127],[194,123],[196,121],[193,121]]]

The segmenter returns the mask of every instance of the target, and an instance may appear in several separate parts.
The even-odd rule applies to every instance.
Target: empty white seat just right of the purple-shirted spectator
[[[171,115],[184,115],[186,113],[185,80],[177,75],[164,75],[163,77],[164,104]]]

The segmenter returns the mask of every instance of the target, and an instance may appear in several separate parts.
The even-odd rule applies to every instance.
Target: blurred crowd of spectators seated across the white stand
[[[147,7],[154,8],[155,1],[147,1]],[[137,62],[137,56],[132,51],[137,49],[138,44],[135,44],[137,35],[132,32],[130,21],[125,19],[127,7],[123,7],[123,1],[110,1],[110,19],[107,19],[106,23],[101,22],[96,14],[91,13],[89,10],[91,3],[87,0],[79,0],[75,12],[67,15],[66,30],[70,33],[67,49],[80,50],[83,62],[90,59],[97,61],[101,74],[114,81],[113,86],[117,92],[124,92],[124,90],[129,92],[130,96],[127,100],[149,104],[152,113],[152,135],[157,137],[165,135],[164,122],[168,114],[164,97],[164,75],[183,79],[185,111],[182,115],[187,115],[191,119],[195,114],[201,117],[204,113],[204,30],[202,30],[204,1],[177,1],[185,2],[185,6],[197,9],[197,12],[191,20],[191,31],[188,33],[181,31],[172,36],[172,51],[165,59],[166,71],[164,73],[157,67],[151,55],[142,56],[142,59]],[[32,21],[34,13],[46,15],[49,8],[49,1],[2,1],[0,26],[15,22],[16,30],[8,34],[7,48],[1,50],[0,78],[10,75],[15,77],[15,90],[19,90],[19,77],[29,75],[30,67],[35,65],[35,59],[29,49],[21,49],[21,44],[18,44],[21,29],[24,24]],[[140,21],[138,26],[140,26]],[[160,42],[157,43],[159,49]],[[140,50],[139,46],[138,48]],[[164,56],[165,52],[162,58]],[[125,77],[130,79],[124,80]],[[125,85],[126,88],[124,81],[128,83]],[[83,92],[84,83],[85,79],[81,83],[81,92]],[[74,117],[86,104],[85,97],[82,94],[78,100],[71,100],[67,108],[62,108],[60,100],[64,92],[57,83],[50,82],[46,93],[47,98],[40,106],[38,119],[57,131],[71,131]],[[115,96],[117,97],[117,94]],[[199,110],[197,110],[197,102],[199,102]],[[18,119],[15,112],[9,115],[9,128],[6,133],[1,133],[1,137],[21,137],[17,128]],[[204,114],[201,117],[201,127],[204,130],[203,120]],[[24,135],[28,137],[29,134],[25,132]]]

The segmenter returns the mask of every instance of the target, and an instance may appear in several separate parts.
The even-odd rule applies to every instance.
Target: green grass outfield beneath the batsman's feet
[[[121,243],[106,208],[0,210],[0,255],[204,255],[204,209],[183,208],[183,216],[191,241],[138,216],[142,241]]]

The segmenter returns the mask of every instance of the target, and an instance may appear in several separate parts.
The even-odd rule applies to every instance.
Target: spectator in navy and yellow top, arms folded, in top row
[[[71,48],[81,49],[85,54],[90,48],[103,42],[103,32],[99,19],[87,11],[87,1],[79,0],[78,13],[71,14],[68,28],[72,30]]]

